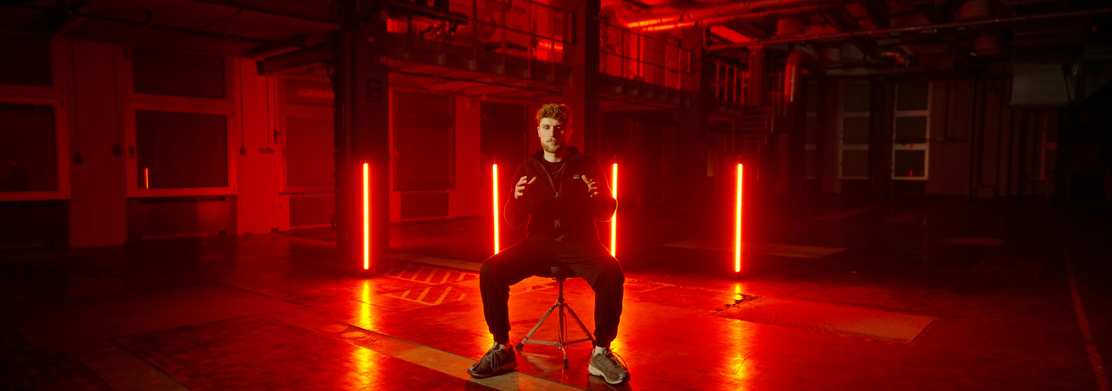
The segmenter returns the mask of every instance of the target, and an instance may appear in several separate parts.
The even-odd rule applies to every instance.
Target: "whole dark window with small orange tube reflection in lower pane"
[[[143,48],[121,49],[128,136],[128,196],[236,192],[240,126],[235,80],[225,58]],[[235,136],[234,136],[235,134]]]

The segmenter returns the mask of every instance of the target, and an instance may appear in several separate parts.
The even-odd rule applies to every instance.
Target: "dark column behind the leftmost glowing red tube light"
[[[389,248],[389,71],[385,2],[339,1],[342,28],[332,39],[336,104],[336,242],[363,260],[363,164],[370,168],[370,269]]]

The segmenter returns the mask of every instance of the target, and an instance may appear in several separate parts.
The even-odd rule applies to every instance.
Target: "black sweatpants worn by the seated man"
[[[487,258],[479,270],[483,314],[498,343],[509,343],[509,285],[563,262],[595,290],[595,344],[610,347],[622,317],[625,274],[618,260],[597,240],[526,239]]]

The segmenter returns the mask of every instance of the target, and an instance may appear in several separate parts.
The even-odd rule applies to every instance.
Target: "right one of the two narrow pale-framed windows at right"
[[[896,84],[896,111],[893,120],[892,178],[925,180],[930,147],[931,84]]]

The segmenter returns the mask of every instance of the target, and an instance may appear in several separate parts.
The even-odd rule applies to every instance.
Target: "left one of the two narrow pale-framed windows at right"
[[[871,103],[868,82],[846,82],[842,84],[842,110],[838,131],[838,174],[842,179],[868,179],[868,108]]]

